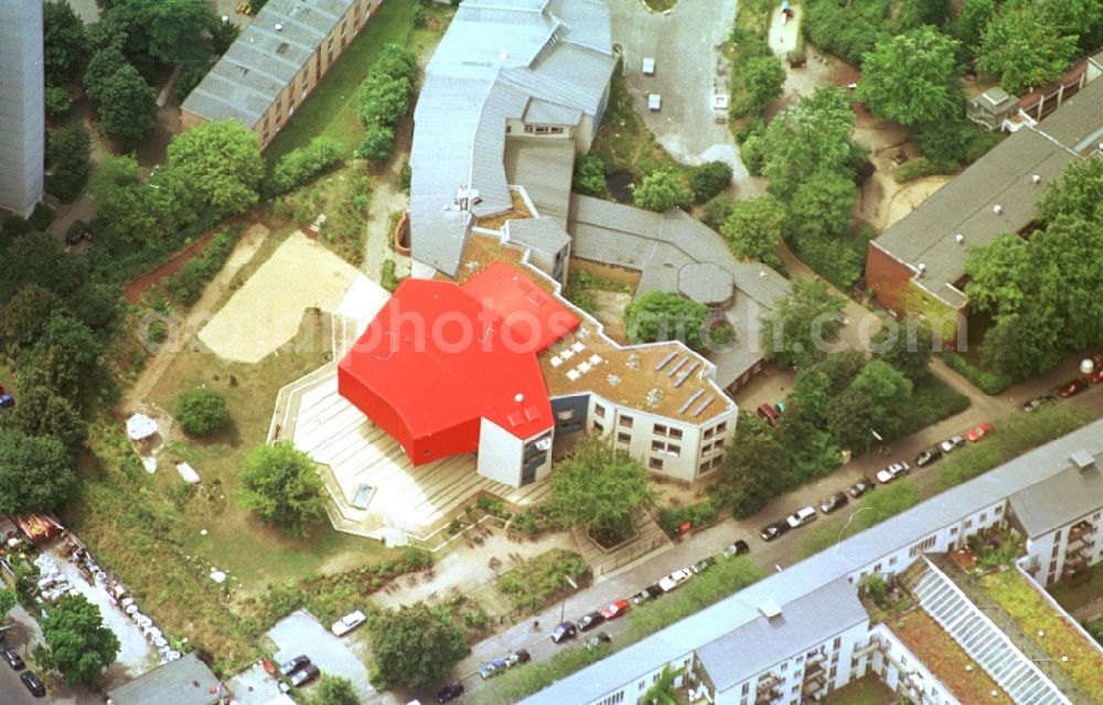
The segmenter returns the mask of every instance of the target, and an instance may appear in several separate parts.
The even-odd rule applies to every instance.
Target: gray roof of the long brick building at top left
[[[181,108],[251,130],[354,2],[269,0]]]

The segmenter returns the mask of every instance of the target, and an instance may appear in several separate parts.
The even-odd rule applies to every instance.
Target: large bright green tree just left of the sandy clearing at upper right
[[[854,120],[846,94],[835,86],[821,86],[779,114],[762,137],[762,173],[771,190],[788,199],[808,174],[846,171]]]

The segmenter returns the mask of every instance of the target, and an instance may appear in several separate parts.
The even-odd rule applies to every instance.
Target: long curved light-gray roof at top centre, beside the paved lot
[[[414,257],[456,276],[471,226],[470,215],[446,210],[457,190],[479,191],[476,217],[511,205],[506,120],[529,110],[568,126],[596,116],[614,65],[603,0],[463,2],[414,114]]]

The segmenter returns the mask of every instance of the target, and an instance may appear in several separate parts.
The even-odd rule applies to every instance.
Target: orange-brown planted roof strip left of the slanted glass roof
[[[934,677],[950,688],[962,703],[1011,705],[1014,701],[996,685],[988,673],[950,634],[922,610],[914,610],[889,623],[892,633],[915,654]],[[972,666],[966,670],[966,666]],[[992,692],[997,695],[993,697]],[[836,702],[836,701],[831,701]]]

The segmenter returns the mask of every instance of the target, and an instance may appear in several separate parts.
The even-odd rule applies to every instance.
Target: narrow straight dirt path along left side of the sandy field
[[[229,289],[229,282],[234,279],[234,275],[245,266],[245,263],[253,258],[253,255],[260,248],[267,236],[268,228],[260,224],[253,225],[245,231],[245,234],[237,242],[237,246],[229,254],[229,258],[222,270],[211,280],[211,284],[203,291],[203,296],[192,307],[183,324],[179,327],[178,342],[174,345],[165,345],[160,352],[154,354],[147,362],[141,374],[138,375],[138,380],[130,385],[122,395],[122,398],[119,399],[119,409],[121,412],[129,414],[139,404],[144,402],[150,389],[153,388],[153,385],[161,378],[164,371],[172,364],[175,354],[183,351],[188,345],[193,344],[196,331],[206,322],[211,310]]]

